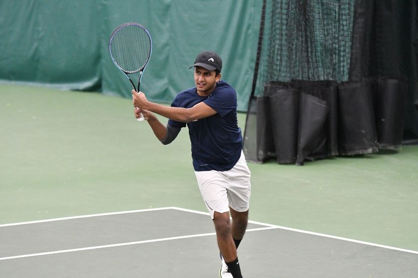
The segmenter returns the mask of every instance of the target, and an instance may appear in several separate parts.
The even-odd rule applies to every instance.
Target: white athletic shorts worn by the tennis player
[[[215,211],[224,213],[230,207],[238,212],[249,209],[251,172],[244,153],[228,171],[194,171],[200,193],[212,219]]]

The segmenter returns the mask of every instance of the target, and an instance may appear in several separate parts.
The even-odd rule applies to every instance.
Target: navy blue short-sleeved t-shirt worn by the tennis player
[[[241,129],[236,118],[236,92],[226,81],[219,81],[211,95],[199,96],[193,87],[179,93],[171,106],[191,108],[202,101],[217,114],[187,123],[194,170],[230,170],[242,150]],[[186,126],[185,122],[172,119],[168,124],[177,128]]]

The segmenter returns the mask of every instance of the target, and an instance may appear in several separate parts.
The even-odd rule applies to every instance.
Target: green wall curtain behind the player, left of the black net
[[[257,0],[0,1],[0,82],[100,91],[130,97],[131,84],[112,63],[108,40],[138,22],[153,40],[141,90],[170,103],[194,85],[189,66],[203,50],[224,60],[223,79],[247,107],[260,24]],[[135,76],[137,78],[137,76]]]

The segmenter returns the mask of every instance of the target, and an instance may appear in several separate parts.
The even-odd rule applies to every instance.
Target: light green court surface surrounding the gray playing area
[[[245,114],[238,117],[243,127]],[[163,146],[134,118],[130,99],[3,84],[0,130],[0,224],[205,211],[187,130]],[[249,167],[253,221],[418,251],[418,146]]]

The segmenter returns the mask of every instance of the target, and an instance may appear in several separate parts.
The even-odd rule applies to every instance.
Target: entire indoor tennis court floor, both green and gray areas
[[[217,277],[186,132],[161,145],[129,99],[0,90],[1,277]],[[416,277],[417,157],[250,163],[243,274]]]

